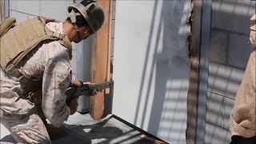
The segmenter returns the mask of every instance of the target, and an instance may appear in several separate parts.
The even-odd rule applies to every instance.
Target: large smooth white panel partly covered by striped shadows
[[[113,114],[185,143],[190,0],[117,1]]]

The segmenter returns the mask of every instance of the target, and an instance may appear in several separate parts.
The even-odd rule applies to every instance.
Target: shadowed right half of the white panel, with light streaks
[[[162,10],[160,21],[157,21],[159,7]],[[153,14],[134,123],[166,142],[186,142],[186,95],[190,73],[186,43],[190,26],[186,22],[190,16],[190,1],[155,1]],[[154,98],[150,107],[152,91]],[[142,97],[146,97],[143,98],[145,102]],[[146,114],[150,115],[149,122],[145,122]]]

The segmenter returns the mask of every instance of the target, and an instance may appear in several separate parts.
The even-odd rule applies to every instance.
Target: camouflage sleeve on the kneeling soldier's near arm
[[[42,78],[42,110],[48,121],[58,127],[70,115],[65,92],[71,82],[71,68],[66,50],[57,47],[49,53],[52,57],[46,62]]]

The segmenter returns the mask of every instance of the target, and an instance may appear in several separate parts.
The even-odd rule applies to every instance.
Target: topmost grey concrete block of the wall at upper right
[[[250,33],[251,16],[255,14],[255,1],[252,0],[214,0],[212,27],[236,32]]]

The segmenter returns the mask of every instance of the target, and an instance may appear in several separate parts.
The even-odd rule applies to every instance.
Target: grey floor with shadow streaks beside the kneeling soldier
[[[142,133],[127,126],[118,119],[107,115],[106,118],[94,120],[90,114],[71,115],[65,122],[68,134],[62,138],[52,140],[53,144],[105,144],[105,143],[138,143],[150,144],[153,142],[142,139]],[[16,142],[10,132],[1,125],[0,142]]]

